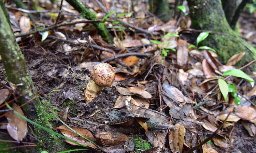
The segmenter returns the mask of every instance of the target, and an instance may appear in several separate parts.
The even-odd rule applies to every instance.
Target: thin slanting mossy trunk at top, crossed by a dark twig
[[[79,1],[79,0],[66,0],[71,6],[75,8],[76,11],[78,11],[83,18],[86,18],[88,20],[97,20],[96,15],[85,8],[85,6]],[[105,28],[104,23],[93,23],[95,28],[97,29],[98,33],[101,35],[103,39],[110,42],[109,38],[109,32]]]

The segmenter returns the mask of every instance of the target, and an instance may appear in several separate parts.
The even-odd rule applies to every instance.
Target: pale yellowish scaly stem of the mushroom
[[[87,84],[86,90],[85,90],[85,97],[89,101],[93,101],[95,97],[99,94],[99,92],[104,87],[98,86],[93,79],[90,79],[90,81]]]

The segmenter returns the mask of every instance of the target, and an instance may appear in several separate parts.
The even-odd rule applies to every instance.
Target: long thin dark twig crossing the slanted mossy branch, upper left
[[[24,33],[24,34],[19,34],[19,35],[16,35],[15,37],[16,37],[16,38],[17,38],[17,37],[24,37],[24,36],[28,36],[28,35],[31,35],[31,34],[35,34],[35,33],[38,33],[38,32],[43,32],[43,31],[47,31],[47,30],[52,30],[52,29],[54,29],[54,28],[58,28],[58,27],[62,27],[62,26],[69,26],[69,25],[73,25],[73,24],[76,24],[76,23],[94,23],[94,22],[101,22],[101,20],[81,20],[81,21],[75,21],[75,22],[60,23],[60,24],[52,25],[52,26],[47,27],[47,28],[43,28],[43,29],[31,31],[31,32]]]

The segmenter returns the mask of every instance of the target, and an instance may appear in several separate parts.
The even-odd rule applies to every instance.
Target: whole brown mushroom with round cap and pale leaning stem
[[[104,87],[112,85],[115,78],[115,69],[108,63],[99,63],[91,70],[91,79],[85,90],[85,97],[88,101],[95,97]]]

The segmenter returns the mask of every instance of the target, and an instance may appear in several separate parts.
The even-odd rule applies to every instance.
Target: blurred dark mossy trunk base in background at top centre
[[[150,12],[162,20],[169,21],[174,12],[169,9],[168,0],[149,0]]]

